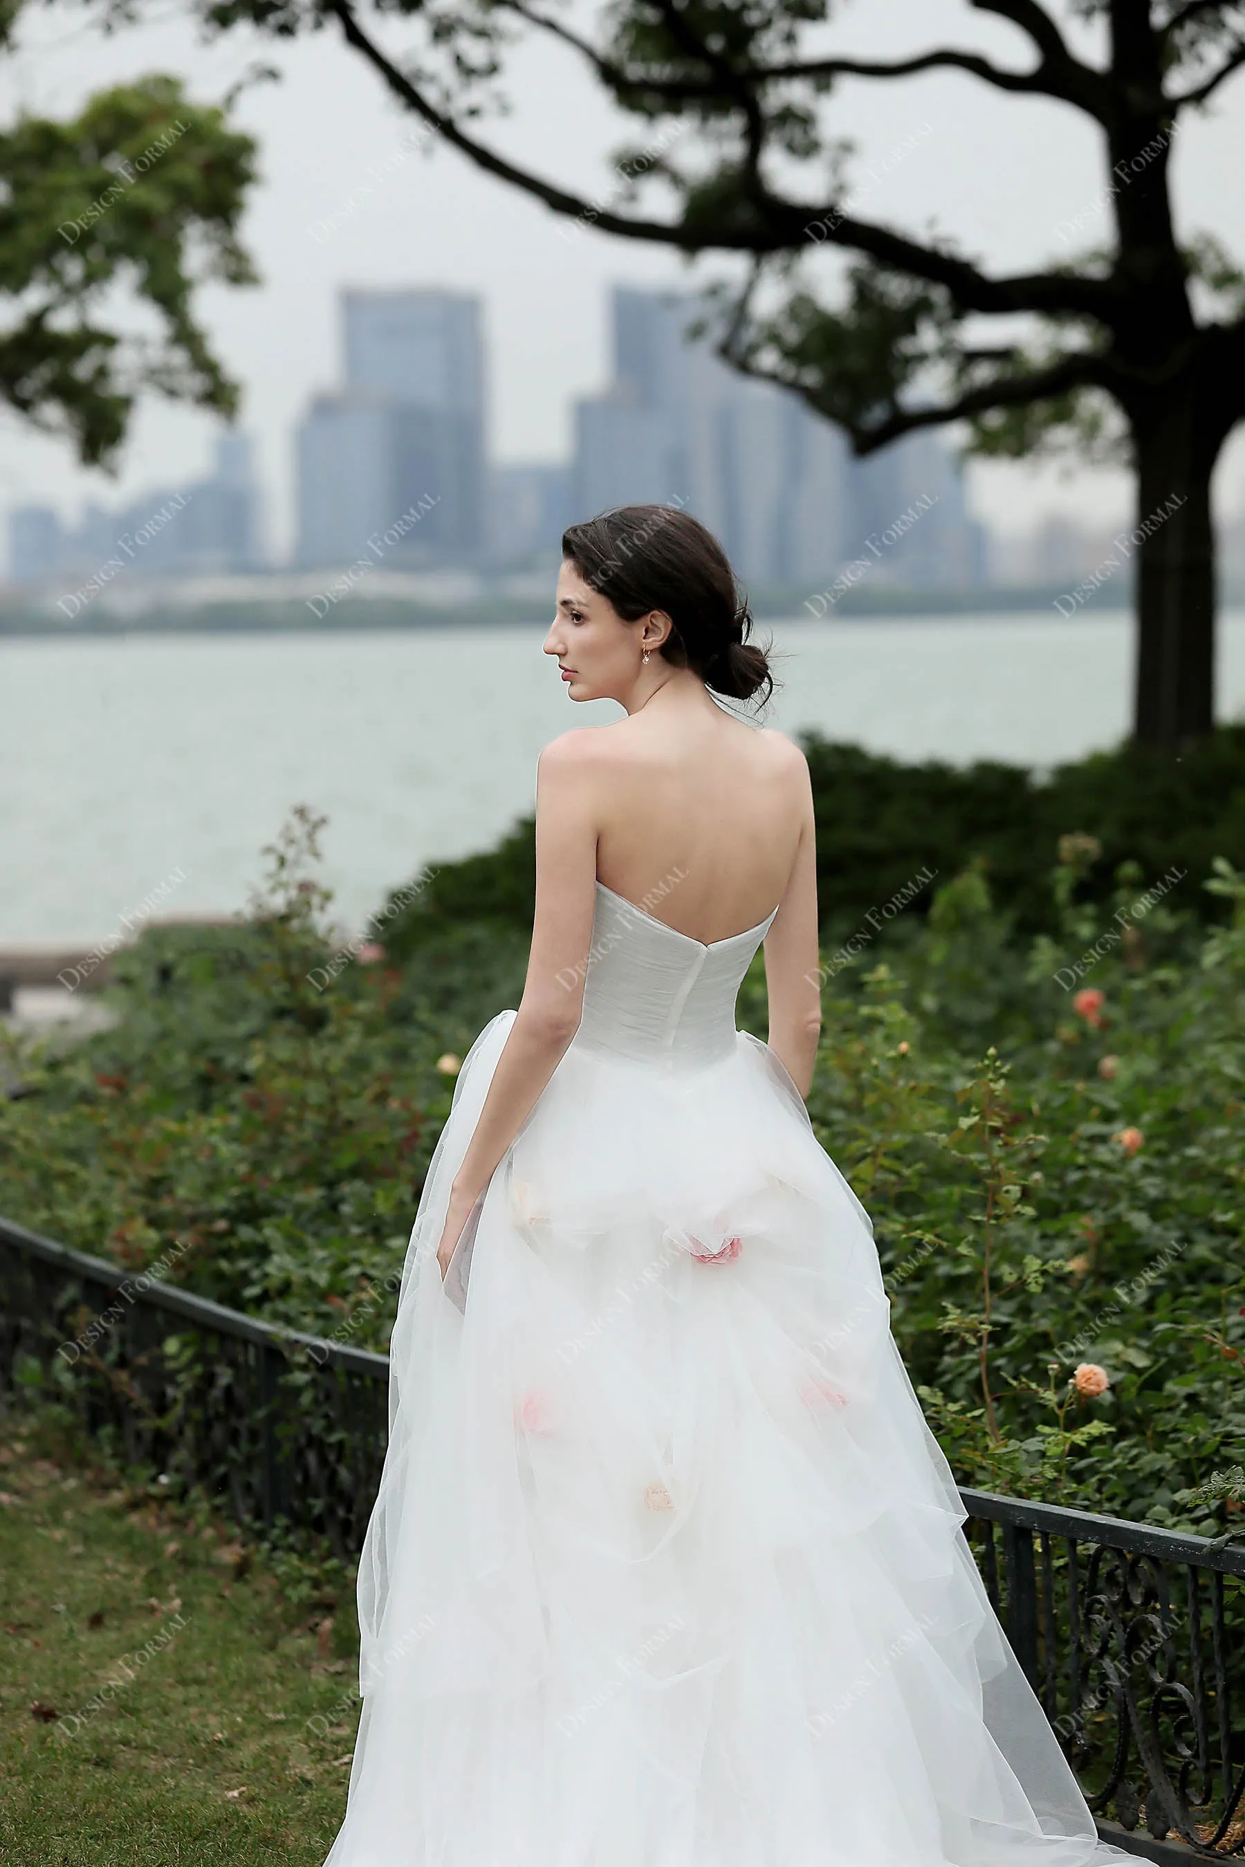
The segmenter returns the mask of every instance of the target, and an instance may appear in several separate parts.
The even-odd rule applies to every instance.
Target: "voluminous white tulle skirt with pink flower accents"
[[[513,1016],[463,1064],[403,1271],[327,1867],[1116,1856],[765,1044],[666,1074],[573,1044],[442,1286]]]

